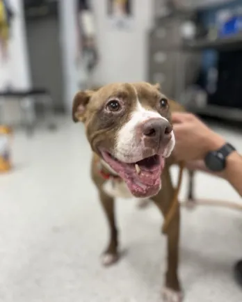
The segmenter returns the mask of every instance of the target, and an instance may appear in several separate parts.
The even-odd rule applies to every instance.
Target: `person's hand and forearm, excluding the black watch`
[[[173,113],[172,121],[176,137],[175,158],[186,161],[191,170],[203,170],[223,177],[242,196],[241,155],[236,151],[232,152],[226,159],[225,169],[219,173],[211,173],[203,159],[207,152],[221,148],[226,142],[225,139],[191,113]]]

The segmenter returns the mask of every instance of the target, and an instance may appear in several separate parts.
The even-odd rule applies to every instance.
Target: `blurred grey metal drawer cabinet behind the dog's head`
[[[177,100],[194,81],[199,66],[197,55],[182,51],[183,22],[179,17],[156,19],[148,37],[148,81],[158,82],[166,95]]]

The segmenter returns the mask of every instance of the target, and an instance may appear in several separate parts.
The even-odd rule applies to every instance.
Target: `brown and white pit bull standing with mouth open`
[[[74,97],[73,119],[86,126],[93,151],[92,180],[110,230],[110,241],[102,256],[104,265],[113,264],[119,257],[114,198],[150,198],[163,216],[168,214],[175,192],[169,170],[175,146],[170,113],[182,110],[163,95],[159,85],[145,82],[109,84],[95,91],[81,91]],[[182,299],[177,276],[179,207],[167,235],[163,297],[177,302]]]

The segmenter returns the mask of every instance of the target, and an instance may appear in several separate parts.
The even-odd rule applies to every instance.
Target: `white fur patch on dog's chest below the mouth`
[[[113,198],[134,198],[129,191],[127,184],[120,180],[106,180],[106,182],[104,182],[103,189],[108,196]]]

